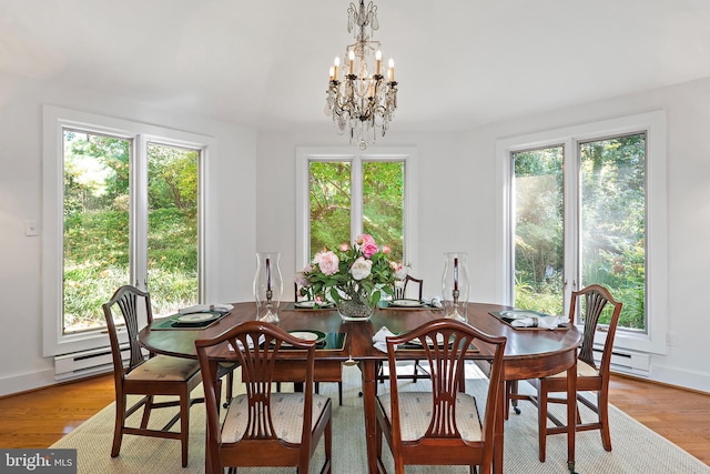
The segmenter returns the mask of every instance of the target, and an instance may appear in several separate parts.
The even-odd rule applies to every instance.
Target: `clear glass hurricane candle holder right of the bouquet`
[[[468,322],[466,306],[470,284],[468,280],[468,254],[446,252],[444,254],[444,274],[442,275],[442,306],[444,317]]]

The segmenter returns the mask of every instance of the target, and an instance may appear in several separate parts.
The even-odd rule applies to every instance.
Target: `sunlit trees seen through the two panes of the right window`
[[[567,161],[561,145],[513,153],[516,306],[562,314],[567,281],[597,283],[623,303],[620,327],[647,329],[646,141],[646,133],[585,141]],[[579,180],[575,202],[565,201],[570,173]],[[574,245],[566,219],[576,223]],[[578,253],[566,259],[566,250]],[[610,315],[606,309],[600,321]]]

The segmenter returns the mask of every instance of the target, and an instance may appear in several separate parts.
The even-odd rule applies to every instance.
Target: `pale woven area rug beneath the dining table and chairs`
[[[361,373],[356,366],[345,366],[343,373],[343,405],[337,404],[337,384],[321,384],[321,393],[333,397],[333,472],[341,474],[365,473],[366,450],[363,422],[363,400],[358,396]],[[239,376],[235,376],[239,380]],[[417,384],[400,382],[400,390],[423,387],[426,381]],[[481,393],[486,380],[471,366],[467,371],[467,391]],[[521,391],[527,384],[520,384]],[[387,390],[387,384],[378,390]],[[286,389],[287,390],[287,389]],[[590,395],[591,396],[591,395]],[[481,396],[477,396],[481,400]],[[504,467],[506,474],[565,473],[567,471],[567,436],[554,435],[547,441],[547,461],[538,461],[537,409],[521,403],[520,415],[511,414],[505,425]],[[552,406],[551,409],[556,409]],[[586,410],[582,407],[582,410]],[[163,411],[164,412],[164,411]],[[155,413],[158,414],[158,412]],[[582,411],[582,420],[589,413]],[[152,420],[162,426],[164,420]],[[204,472],[204,406],[194,405],[190,414],[190,463],[183,468],[180,463],[180,442],[174,440],[151,438],[125,435],[121,454],[112,458],[114,406],[106,406],[81,426],[69,433],[51,447],[77,448],[79,473],[125,473],[125,474],[165,474]],[[564,414],[561,415],[564,416]],[[139,423],[135,416],[135,424]],[[561,420],[565,420],[562,417]],[[577,435],[577,472],[584,473],[710,473],[710,467],[691,456],[662,436],[648,430],[616,407],[610,410],[612,451],[601,446],[599,432],[584,432]],[[385,465],[394,472],[392,456],[386,443],[383,446]],[[323,460],[323,446],[318,446],[311,472],[318,472]],[[295,468],[240,468],[240,473],[281,474],[294,473]],[[465,466],[407,466],[413,474],[457,474],[468,473]]]

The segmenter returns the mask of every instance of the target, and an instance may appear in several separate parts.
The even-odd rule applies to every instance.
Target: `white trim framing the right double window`
[[[565,159],[576,155],[579,142],[600,137],[612,137],[647,131],[647,333],[617,331],[615,346],[648,352],[666,353],[666,331],[668,327],[668,211],[667,211],[667,127],[666,112],[653,111],[619,119],[605,120],[582,125],[549,130],[528,135],[514,137],[496,142],[496,299],[511,304],[509,177],[510,153],[546,145],[565,147]],[[567,196],[566,196],[567,198]],[[574,225],[566,222],[565,225]],[[567,253],[567,250],[566,250]],[[565,294],[568,307],[569,292]],[[622,310],[623,311],[623,310]]]

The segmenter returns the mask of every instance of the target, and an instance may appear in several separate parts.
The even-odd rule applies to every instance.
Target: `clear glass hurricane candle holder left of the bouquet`
[[[266,323],[278,323],[278,304],[284,291],[280,259],[278,252],[256,253],[256,275],[254,276],[256,319]]]

